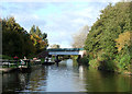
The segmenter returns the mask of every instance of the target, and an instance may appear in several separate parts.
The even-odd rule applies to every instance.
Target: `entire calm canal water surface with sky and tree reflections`
[[[132,77],[77,66],[72,59],[58,67],[38,66],[31,72],[2,74],[2,92],[130,92]]]

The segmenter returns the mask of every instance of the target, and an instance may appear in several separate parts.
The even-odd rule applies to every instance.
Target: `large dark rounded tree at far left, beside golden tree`
[[[28,32],[15,22],[14,17],[2,20],[2,55],[29,56],[35,49]]]

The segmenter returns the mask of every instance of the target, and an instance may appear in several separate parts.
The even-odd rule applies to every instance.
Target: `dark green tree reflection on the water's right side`
[[[88,92],[128,92],[130,78],[95,69],[84,72],[86,90]]]

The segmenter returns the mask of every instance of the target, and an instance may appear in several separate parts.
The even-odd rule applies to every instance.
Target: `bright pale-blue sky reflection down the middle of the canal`
[[[84,89],[78,72],[74,70],[77,70],[77,67],[73,68],[72,59],[61,61],[58,68],[51,66],[46,92],[79,92]]]

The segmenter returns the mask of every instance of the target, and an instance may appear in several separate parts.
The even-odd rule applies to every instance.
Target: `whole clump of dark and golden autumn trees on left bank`
[[[29,34],[14,17],[2,21],[2,55],[19,58],[31,57],[47,47],[46,34],[41,34],[41,30],[31,28]],[[34,31],[32,33],[32,30]]]

